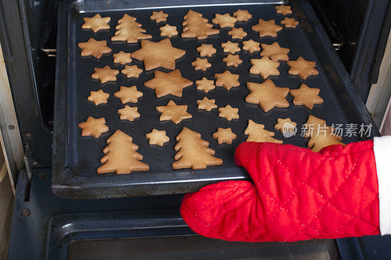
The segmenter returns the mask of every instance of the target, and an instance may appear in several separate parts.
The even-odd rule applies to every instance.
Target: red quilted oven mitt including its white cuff
[[[332,145],[244,142],[235,161],[254,182],[223,181],[187,194],[196,233],[229,241],[297,241],[391,233],[391,137]],[[380,211],[379,211],[380,210]]]

